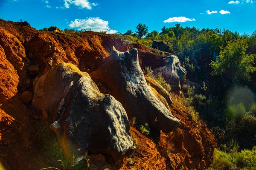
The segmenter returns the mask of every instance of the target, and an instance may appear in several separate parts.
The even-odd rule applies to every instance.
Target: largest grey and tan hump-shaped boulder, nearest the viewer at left
[[[52,130],[75,164],[87,152],[130,156],[135,146],[127,114],[113,96],[102,94],[90,76],[73,64],[59,63],[35,83],[33,106],[54,114]]]

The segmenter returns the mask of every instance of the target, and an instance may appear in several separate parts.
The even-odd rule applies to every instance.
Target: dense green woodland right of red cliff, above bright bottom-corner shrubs
[[[137,42],[164,41],[168,52],[179,57],[187,71],[182,84],[188,103],[208,122],[220,150],[256,145],[256,31],[240,35],[180,24],[161,32],[148,32],[143,24],[136,28],[124,34]]]

